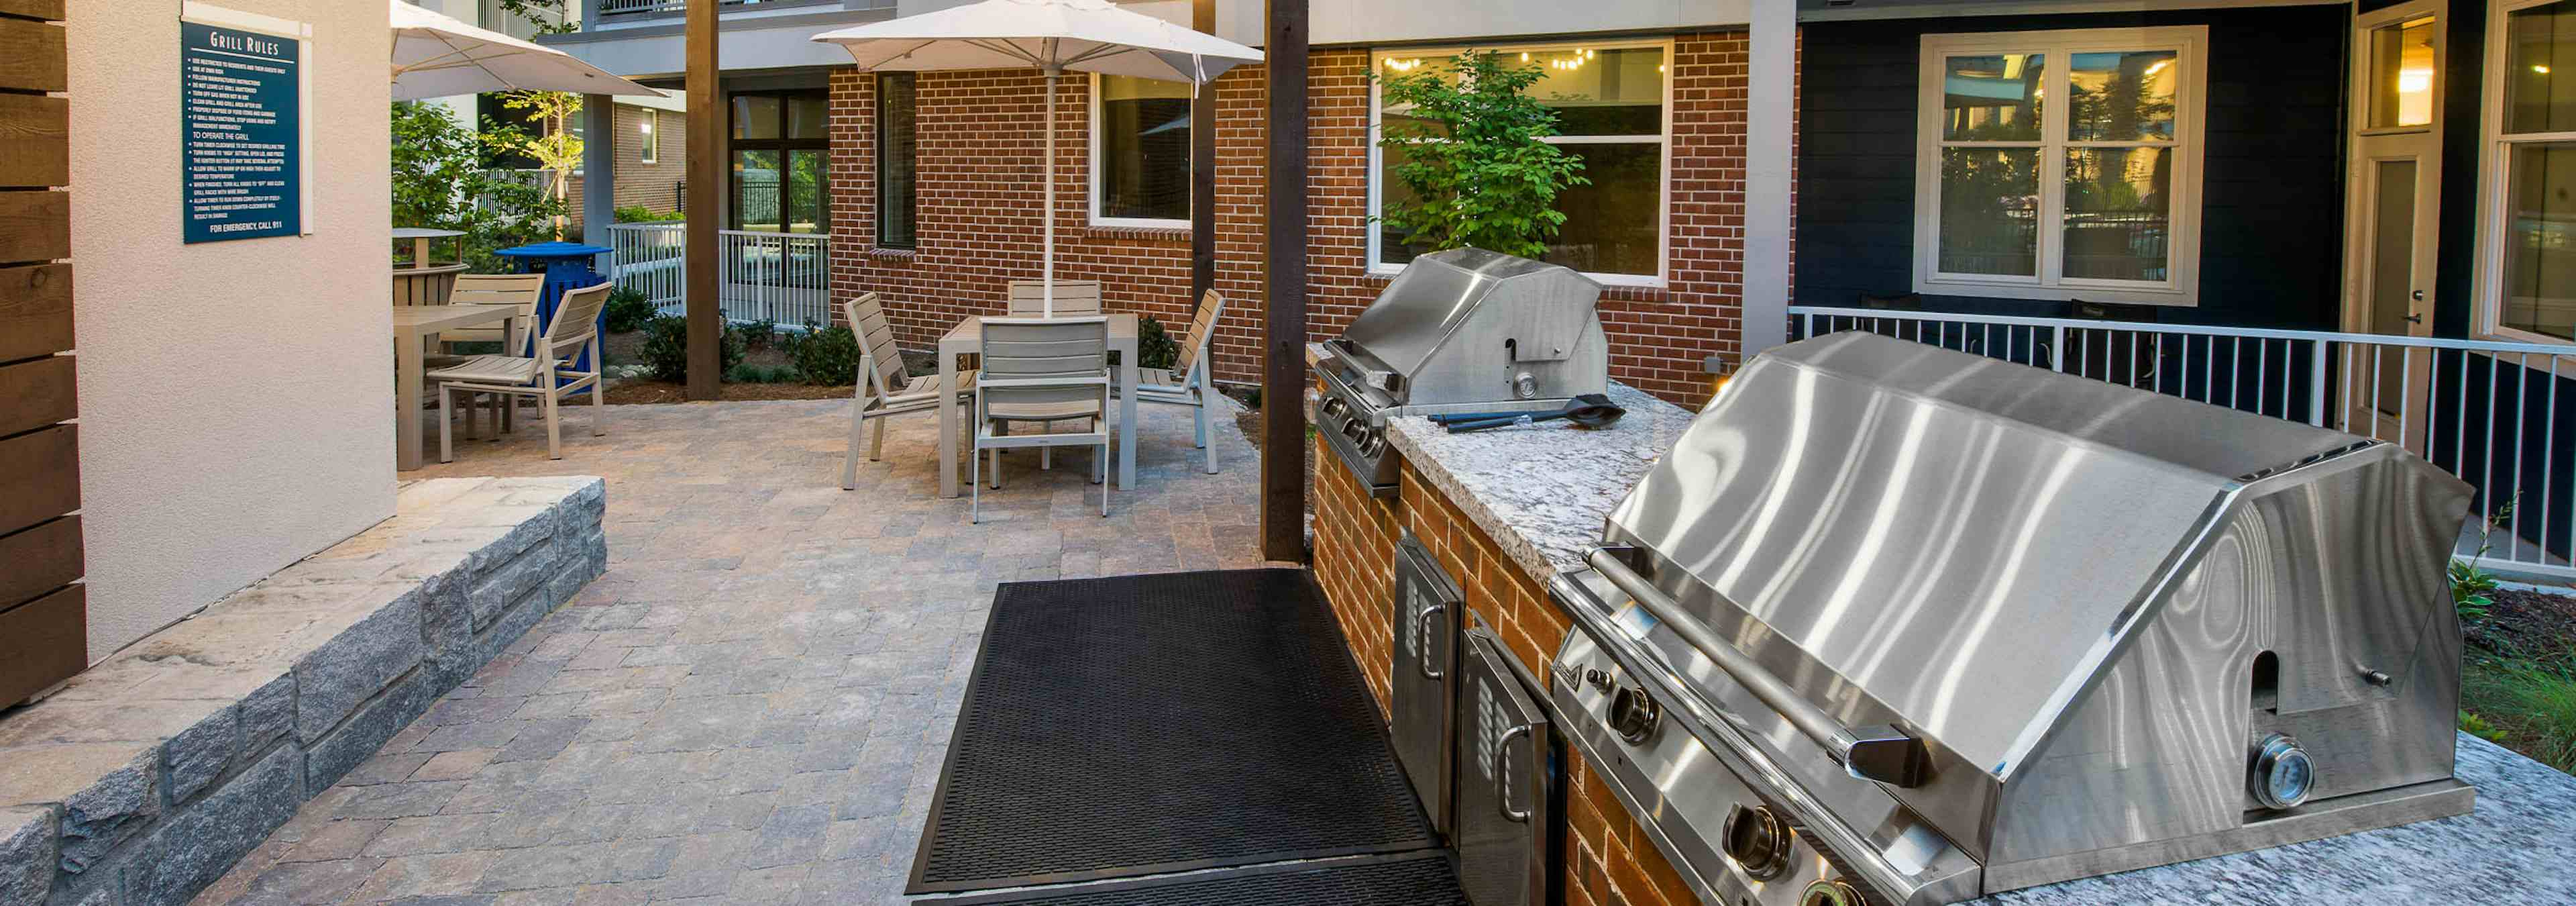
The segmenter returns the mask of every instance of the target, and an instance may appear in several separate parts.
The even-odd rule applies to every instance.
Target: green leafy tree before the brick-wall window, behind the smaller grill
[[[1556,111],[1525,93],[1540,75],[1494,51],[1383,75],[1378,147],[1401,154],[1391,175],[1412,198],[1386,198],[1378,219],[1432,250],[1546,255],[1566,224],[1556,193],[1589,180],[1579,157],[1540,142],[1556,134]]]

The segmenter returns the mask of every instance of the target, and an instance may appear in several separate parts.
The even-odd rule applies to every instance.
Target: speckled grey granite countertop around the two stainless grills
[[[1515,425],[1450,435],[1425,417],[1388,438],[1425,481],[1546,582],[1582,569],[1602,517],[1692,412],[1610,384],[1618,425]],[[2576,777],[2460,734],[2468,816],[1996,893],[1973,903],[2576,903]]]

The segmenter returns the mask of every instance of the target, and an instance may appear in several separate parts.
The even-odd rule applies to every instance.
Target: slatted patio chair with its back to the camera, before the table
[[[1100,515],[1110,515],[1110,322],[1105,317],[987,317],[984,373],[974,384],[974,502],[966,520],[981,520],[984,450],[992,450],[992,486],[1002,486],[1005,448],[1097,448],[1092,481]],[[1012,435],[1010,422],[1087,420],[1084,432]]]

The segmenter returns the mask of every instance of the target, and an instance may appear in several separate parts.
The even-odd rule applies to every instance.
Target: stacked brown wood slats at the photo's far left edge
[[[0,708],[90,664],[64,0],[0,0]]]

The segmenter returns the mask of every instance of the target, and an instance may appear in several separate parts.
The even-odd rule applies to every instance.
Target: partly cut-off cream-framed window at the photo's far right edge
[[[2576,3],[2499,0],[2478,162],[2481,337],[2576,340]]]

